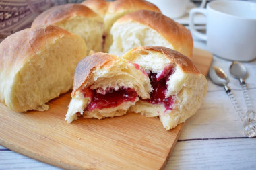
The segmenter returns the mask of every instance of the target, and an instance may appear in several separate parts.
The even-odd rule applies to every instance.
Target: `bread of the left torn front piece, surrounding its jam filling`
[[[137,95],[143,99],[150,97],[150,79],[131,62],[101,52],[87,56],[77,65],[72,99],[65,120],[70,123],[77,119],[77,112],[84,118],[98,119],[125,114],[139,97],[135,101],[123,102],[117,107],[84,111],[90,103],[90,97],[84,98],[81,92],[84,88],[101,89],[102,91],[111,88],[117,91],[123,87],[135,90]]]

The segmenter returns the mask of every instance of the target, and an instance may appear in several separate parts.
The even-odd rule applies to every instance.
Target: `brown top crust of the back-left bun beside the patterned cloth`
[[[96,17],[98,16],[90,8],[81,4],[65,4],[52,7],[34,19],[31,27],[38,25],[55,24],[73,16]]]

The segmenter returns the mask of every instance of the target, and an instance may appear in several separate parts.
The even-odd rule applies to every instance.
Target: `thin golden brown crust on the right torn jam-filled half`
[[[171,50],[170,48],[165,48],[162,46],[144,46],[144,47],[137,47],[133,50],[130,50],[125,54],[124,58],[129,60],[129,56],[134,56],[135,54],[143,54],[143,52],[159,52],[164,54],[166,58],[170,60],[170,62],[174,62],[184,73],[192,73],[192,74],[201,74],[201,71],[197,69],[195,64],[192,62],[190,58],[177,52],[175,50]]]

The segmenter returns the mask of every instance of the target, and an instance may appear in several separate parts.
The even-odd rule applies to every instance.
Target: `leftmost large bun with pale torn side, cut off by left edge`
[[[24,112],[47,110],[47,101],[71,89],[86,44],[57,26],[38,26],[8,36],[0,51],[0,101]]]

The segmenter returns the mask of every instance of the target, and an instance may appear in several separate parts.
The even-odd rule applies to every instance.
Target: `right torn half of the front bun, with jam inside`
[[[150,99],[140,99],[130,110],[159,116],[166,130],[195,114],[207,93],[205,76],[183,54],[164,47],[137,47],[124,59],[138,64],[150,77]]]

